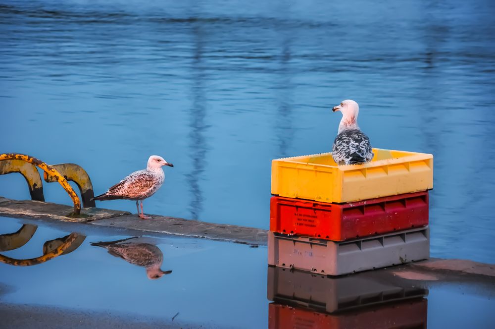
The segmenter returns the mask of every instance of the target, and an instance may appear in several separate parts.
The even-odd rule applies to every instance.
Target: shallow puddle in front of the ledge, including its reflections
[[[424,284],[391,271],[330,278],[268,268],[266,247],[131,238],[80,224],[0,218],[0,234],[2,260],[10,262],[0,263],[0,309],[110,312],[193,328],[488,328],[495,320],[493,286]],[[50,253],[61,255],[21,261]]]

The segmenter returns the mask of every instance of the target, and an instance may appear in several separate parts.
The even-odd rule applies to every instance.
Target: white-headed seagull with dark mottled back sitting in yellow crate
[[[333,111],[342,112],[339,132],[332,147],[332,158],[336,164],[362,164],[373,159],[370,139],[357,126],[359,105],[352,100],[342,101]]]

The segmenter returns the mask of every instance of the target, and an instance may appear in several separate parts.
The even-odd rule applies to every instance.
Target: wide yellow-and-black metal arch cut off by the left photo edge
[[[29,186],[31,200],[45,201],[40,172],[34,164],[28,164],[21,160],[0,161],[0,175],[11,172],[18,172],[24,176]]]

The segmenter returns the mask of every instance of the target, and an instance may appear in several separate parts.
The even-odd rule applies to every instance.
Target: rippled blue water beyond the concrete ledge
[[[432,256],[494,263],[494,13],[488,0],[2,1],[0,152],[80,164],[97,193],[158,154],[175,167],[145,212],[268,228],[270,160],[329,151],[330,109],[351,98],[375,147],[435,155]],[[0,195],[29,198],[19,175]]]

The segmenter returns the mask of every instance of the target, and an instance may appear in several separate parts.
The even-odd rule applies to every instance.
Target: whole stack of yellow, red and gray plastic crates
[[[330,153],[272,162],[269,265],[341,275],[429,257],[433,156],[373,152],[367,164]]]

